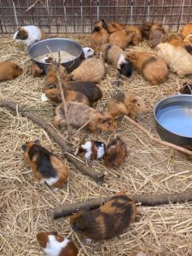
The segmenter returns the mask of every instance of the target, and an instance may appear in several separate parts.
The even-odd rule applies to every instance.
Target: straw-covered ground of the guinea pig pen
[[[57,35],[58,37],[58,35]],[[82,46],[90,45],[89,35],[64,35]],[[146,41],[135,49],[154,54]],[[0,38],[1,61],[14,61],[24,68],[24,73],[12,81],[0,86],[0,99],[14,101],[27,111],[52,122],[54,108],[51,102],[42,102],[41,94],[44,77],[33,79],[29,67],[31,61],[26,50],[15,44],[11,36]],[[174,95],[183,82],[192,81],[192,75],[179,79],[169,73],[163,84],[152,86],[136,71],[130,79],[122,77],[120,86],[114,88],[116,78],[114,67],[108,67],[108,74],[99,83],[103,97],[96,104],[102,110],[108,100],[118,90],[143,96],[147,112],[137,117],[154,137],[159,137],[155,130],[153,108],[156,102],[165,96]],[[90,177],[82,175],[72,164],[69,177],[61,190],[55,194],[45,185],[34,179],[29,165],[23,158],[21,145],[26,141],[40,139],[42,145],[63,157],[61,148],[49,137],[46,131],[31,120],[21,117],[9,108],[0,108],[0,255],[44,255],[38,246],[38,231],[57,230],[62,236],[72,238],[79,247],[79,255],[135,255],[145,252],[148,255],[192,255],[192,202],[164,205],[160,207],[137,207],[137,220],[120,236],[108,241],[93,241],[87,245],[79,238],[69,225],[69,218],[53,220],[50,210],[61,204],[71,204],[94,197],[113,195],[125,190],[129,194],[162,194],[183,192],[192,189],[192,162],[186,156],[170,148],[152,143],[142,131],[118,119],[118,129],[113,133],[99,132],[94,136],[90,131],[73,129],[73,149],[85,139],[97,139],[108,143],[112,137],[121,137],[127,147],[128,155],[118,168],[106,168],[102,160],[87,162],[98,172],[106,171],[105,182],[96,184]],[[67,137],[65,128],[61,134]]]

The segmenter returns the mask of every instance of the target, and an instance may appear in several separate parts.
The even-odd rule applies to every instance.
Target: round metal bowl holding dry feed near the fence
[[[52,52],[58,52],[59,50],[67,51],[67,53],[74,55],[74,59],[71,61],[61,62],[61,65],[67,68],[68,72],[72,72],[74,68],[79,67],[80,64],[80,56],[82,54],[82,47],[79,43],[67,39],[67,38],[49,38],[42,41],[39,41],[28,49],[28,55],[35,61],[40,68],[43,69],[44,73],[46,73],[47,68],[50,63],[44,63],[41,61],[35,60],[40,55],[49,54],[49,49]]]

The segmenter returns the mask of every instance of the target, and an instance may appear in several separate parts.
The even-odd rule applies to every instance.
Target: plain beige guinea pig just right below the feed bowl
[[[107,73],[107,67],[102,59],[91,58],[83,61],[79,67],[70,73],[69,79],[98,83]]]

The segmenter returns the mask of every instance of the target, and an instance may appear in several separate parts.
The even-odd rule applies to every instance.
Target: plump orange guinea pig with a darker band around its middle
[[[166,62],[160,58],[148,55],[142,51],[135,51],[126,55],[127,59],[132,62],[137,72],[152,84],[165,82],[168,75]]]

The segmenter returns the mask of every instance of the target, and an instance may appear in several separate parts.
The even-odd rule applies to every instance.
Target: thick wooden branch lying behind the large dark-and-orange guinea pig
[[[154,207],[158,205],[167,205],[169,203],[175,204],[178,202],[192,201],[192,191],[162,195],[131,195],[131,197],[136,203],[142,203],[142,206]],[[112,198],[113,196],[94,198],[81,203],[56,207],[52,212],[53,218],[56,219],[70,216],[82,208],[89,208],[90,210],[96,209]]]

